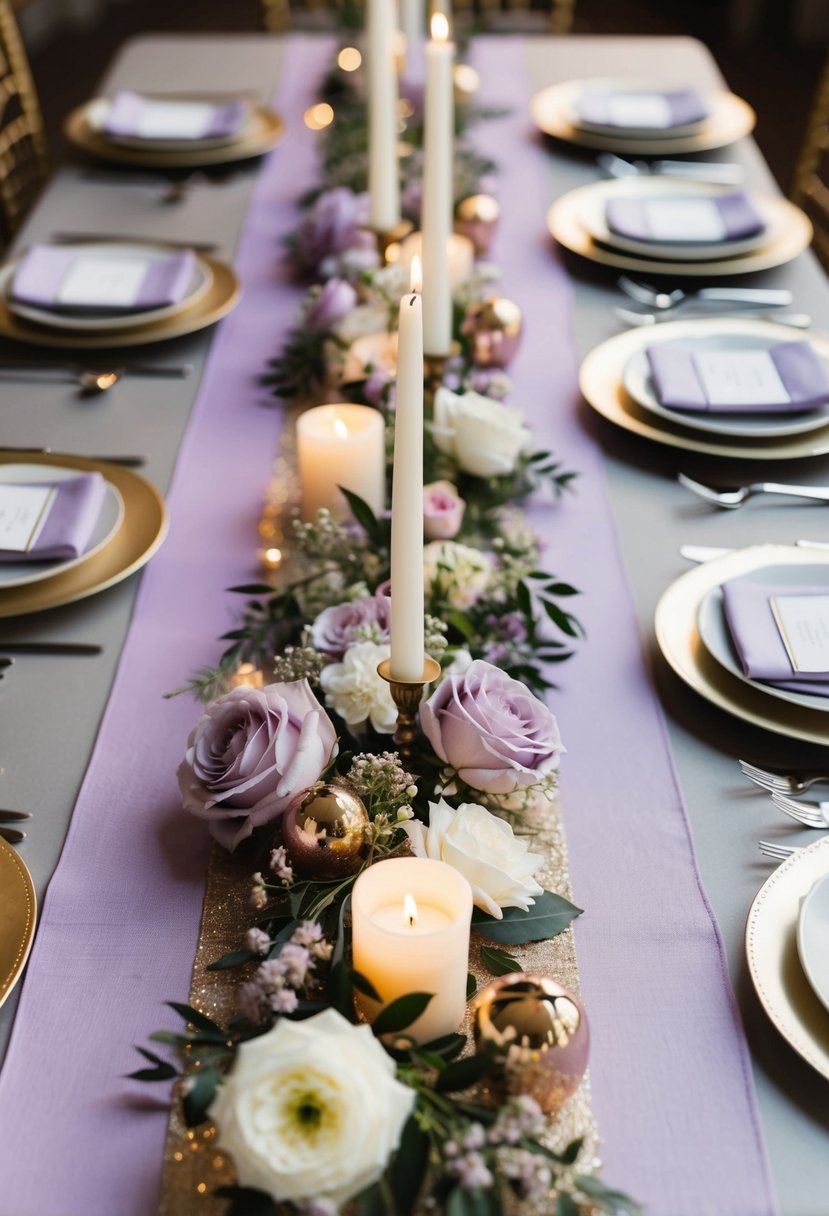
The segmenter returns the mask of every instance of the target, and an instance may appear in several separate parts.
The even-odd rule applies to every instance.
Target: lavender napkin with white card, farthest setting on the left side
[[[232,139],[249,113],[247,102],[186,101],[145,97],[122,89],[112,98],[103,123],[105,134],[135,140],[221,140]]]

